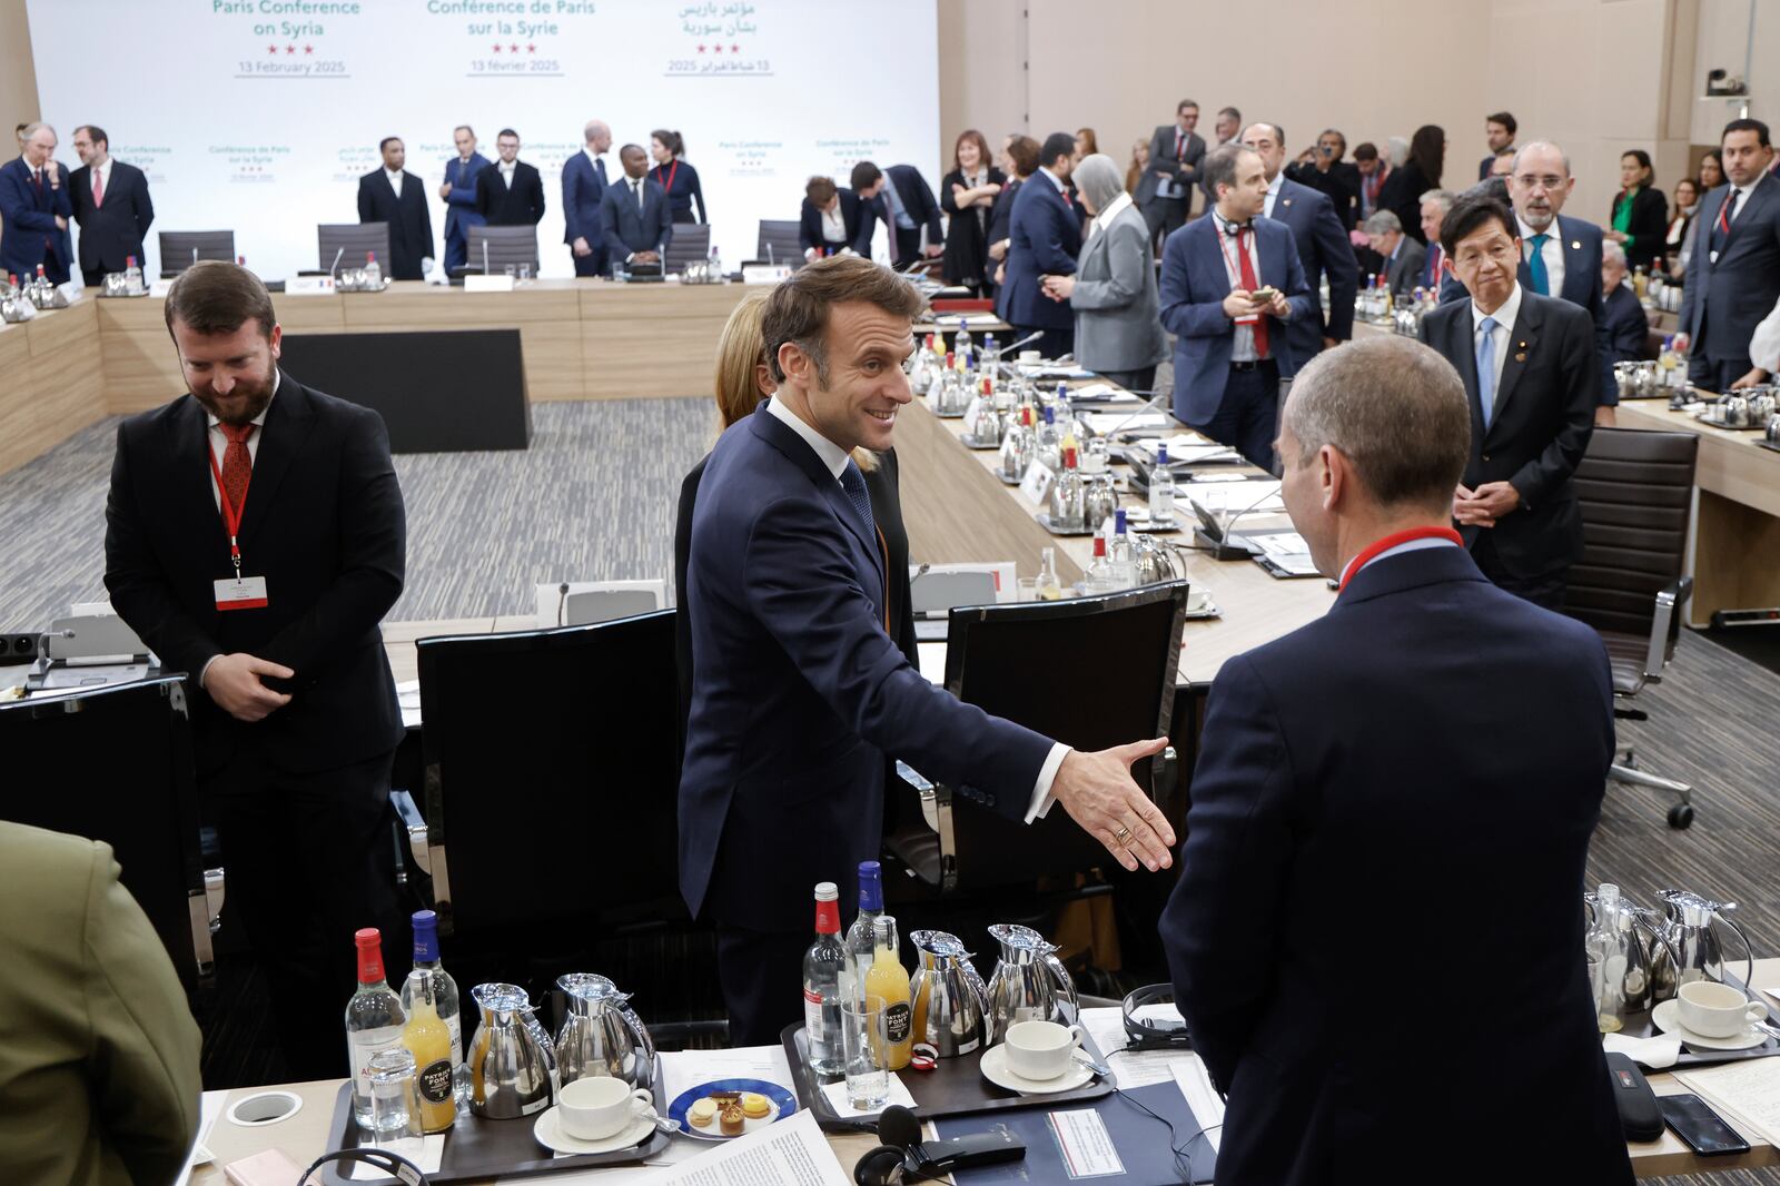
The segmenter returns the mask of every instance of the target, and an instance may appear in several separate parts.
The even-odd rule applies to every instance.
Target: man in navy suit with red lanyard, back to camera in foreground
[[[1632,1182],[1577,954],[1607,655],[1454,547],[1468,418],[1452,369],[1388,337],[1326,351],[1285,401],[1285,508],[1340,593],[1218,673],[1159,928],[1226,1093],[1219,1182],[1495,1181],[1452,1159],[1454,1124],[1536,1125],[1540,1181]],[[1355,910],[1444,937],[1438,971],[1356,967],[1333,924]],[[1463,953],[1511,953],[1490,1026],[1454,1022]]]

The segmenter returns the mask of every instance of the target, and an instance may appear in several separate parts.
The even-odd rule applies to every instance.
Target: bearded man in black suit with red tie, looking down
[[[279,372],[253,272],[194,264],[166,315],[189,394],[117,427],[105,588],[187,673],[222,917],[265,972],[287,1072],[338,1077],[352,931],[399,922],[377,625],[402,591],[402,491],[377,413]]]

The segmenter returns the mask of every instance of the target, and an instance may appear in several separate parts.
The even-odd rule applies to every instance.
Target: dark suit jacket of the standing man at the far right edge
[[[1780,178],[1768,173],[1755,183],[1714,264],[1718,212],[1728,196],[1730,185],[1719,185],[1700,199],[1680,329],[1691,338],[1691,354],[1748,369],[1750,337],[1780,299]]]

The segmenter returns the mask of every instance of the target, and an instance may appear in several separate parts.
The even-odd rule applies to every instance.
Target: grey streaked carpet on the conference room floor
[[[532,417],[529,452],[395,459],[409,545],[393,620],[529,613],[538,581],[671,579],[680,477],[712,440],[710,401],[538,404]],[[0,630],[36,629],[69,602],[103,597],[114,431],[116,420],[101,422],[0,475]],[[1673,832],[1668,796],[1611,785],[1590,880],[1645,903],[1666,885],[1736,901],[1757,954],[1780,953],[1780,677],[1684,630],[1670,677],[1639,703],[1652,719],[1625,725],[1622,741],[1648,769],[1695,784],[1698,819]],[[1404,958],[1419,958],[1415,938]],[[1780,1174],[1700,1181],[1746,1186]]]

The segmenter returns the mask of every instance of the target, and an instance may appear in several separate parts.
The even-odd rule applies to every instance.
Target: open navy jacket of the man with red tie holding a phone
[[[1305,281],[1290,228],[1276,219],[1255,219],[1255,235],[1260,283],[1285,294],[1292,321],[1317,324],[1317,299]],[[1235,349],[1235,322],[1223,310],[1232,288],[1214,215],[1193,219],[1168,237],[1162,248],[1162,328],[1175,335],[1175,417],[1184,424],[1205,424],[1223,404],[1230,353]],[[1267,315],[1267,338],[1280,378],[1298,374],[1294,351],[1287,345],[1287,324]]]

